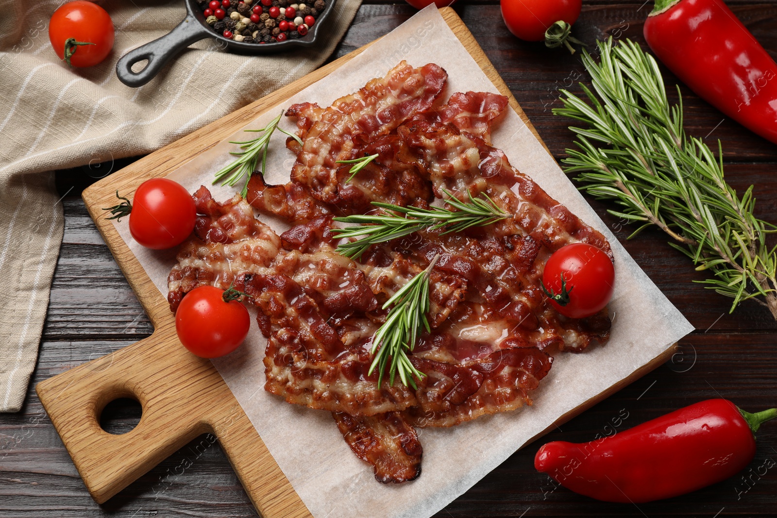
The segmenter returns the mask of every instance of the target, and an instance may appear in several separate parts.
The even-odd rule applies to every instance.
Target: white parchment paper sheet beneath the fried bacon
[[[434,62],[447,70],[445,99],[459,91],[498,92],[433,4],[246,129],[263,127],[291,103],[315,101],[328,106],[369,79],[382,77],[402,59],[416,67]],[[493,144],[507,153],[512,165],[528,173],[551,196],[604,234],[612,246],[615,294],[609,306],[611,338],[605,346],[593,346],[585,353],[556,355],[550,374],[532,395],[531,407],[452,428],[419,429],[423,474],[402,485],[382,485],[375,481],[371,466],[351,453],[329,412],[289,405],[263,390],[266,340],[252,325],[246,343],[235,353],[214,360],[214,365],[316,518],[425,517],[436,513],[559,416],[628,377],[693,329],[625,252],[517,113],[509,107],[508,112],[493,132]],[[281,127],[295,129],[285,117]],[[252,134],[239,132],[229,140],[247,140],[246,135]],[[280,132],[273,137],[268,183],[288,180],[294,157],[284,148],[284,141]],[[190,192],[200,184],[209,186],[215,200],[228,200],[235,188],[210,184],[213,173],[231,161],[228,151],[236,148],[225,141],[172,172],[169,178],[182,183]],[[279,233],[287,228],[279,221],[262,218]],[[166,295],[175,251],[153,252],[137,245],[129,234],[126,218],[117,223],[117,228]]]

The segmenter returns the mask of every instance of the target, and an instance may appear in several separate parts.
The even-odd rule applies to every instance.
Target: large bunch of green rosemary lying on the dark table
[[[715,276],[700,282],[733,297],[731,311],[754,298],[777,318],[777,256],[766,245],[777,228],[754,217],[753,186],[737,196],[723,179],[720,141],[716,158],[685,134],[682,104],[670,106],[653,57],[629,40],[598,46],[598,64],[583,53],[590,104],[563,90],[564,107],[553,110],[587,126],[570,127],[579,150],[566,150],[566,172],[580,172],[580,189],[621,207],[610,214],[640,224],[629,238],[651,225],[670,235],[697,270]]]

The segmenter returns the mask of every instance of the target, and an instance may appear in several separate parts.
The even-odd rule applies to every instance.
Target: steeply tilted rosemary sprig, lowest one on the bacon
[[[425,374],[410,363],[407,351],[416,346],[416,339],[423,329],[430,331],[427,311],[429,311],[429,274],[437,263],[434,256],[427,269],[416,274],[385,304],[383,309],[389,310],[386,321],[375,332],[372,339],[372,364],[368,375],[378,369],[378,387],[382,384],[386,367],[389,367],[389,384],[394,384],[395,374],[406,386],[416,387],[413,377],[424,377]],[[380,349],[378,349],[380,346]],[[375,353],[375,351],[378,353]]]

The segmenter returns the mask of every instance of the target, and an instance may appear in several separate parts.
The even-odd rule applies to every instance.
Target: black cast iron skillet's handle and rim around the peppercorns
[[[314,1],[310,0],[310,2]],[[221,36],[205,22],[205,16],[202,14],[200,6],[197,5],[197,0],[185,0],[185,2],[186,18],[175,29],[157,40],[130,50],[121,57],[116,64],[116,75],[119,77],[120,82],[133,87],[145,85],[162,70],[162,67],[172,57],[178,55],[181,50],[189,47],[195,41],[204,38],[215,38],[219,47],[235,54],[273,54],[292,47],[309,47],[315,43],[319,28],[323,25],[322,22],[329,15],[329,12],[332,11],[333,5],[335,5],[335,0],[326,0],[326,7],[324,7],[324,10],[315,20],[315,24],[304,37],[297,38],[296,40],[260,44],[243,43],[242,41],[229,40]],[[301,3],[305,3],[304,0],[301,0]],[[145,68],[139,72],[132,71],[132,65],[143,60],[148,60]]]

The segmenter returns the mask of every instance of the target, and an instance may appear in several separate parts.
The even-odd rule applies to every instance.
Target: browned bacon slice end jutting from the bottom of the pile
[[[378,481],[398,484],[421,475],[421,443],[399,413],[366,417],[333,412],[332,416],[354,454],[375,468]]]

